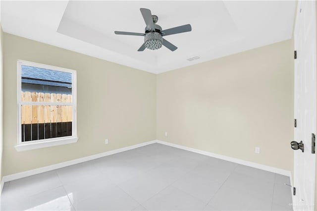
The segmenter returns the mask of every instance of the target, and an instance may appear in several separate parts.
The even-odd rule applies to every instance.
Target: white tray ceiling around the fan
[[[140,8],[162,29],[191,24],[164,37],[178,49],[137,50],[144,33]],[[291,39],[296,1],[1,1],[4,32],[108,61],[161,73]],[[187,58],[200,58],[188,61]]]

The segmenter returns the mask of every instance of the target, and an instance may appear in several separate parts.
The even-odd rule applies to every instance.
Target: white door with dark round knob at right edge
[[[312,134],[316,134],[316,2],[299,1],[295,25],[295,141],[303,141],[304,153],[294,151],[294,210],[314,209],[316,155]]]

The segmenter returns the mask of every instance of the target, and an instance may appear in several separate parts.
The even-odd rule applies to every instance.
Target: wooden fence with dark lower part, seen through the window
[[[21,92],[21,102],[48,103],[48,105],[22,105],[22,142],[62,136],[71,136],[72,96],[55,93]],[[61,103],[61,105],[50,105]]]

